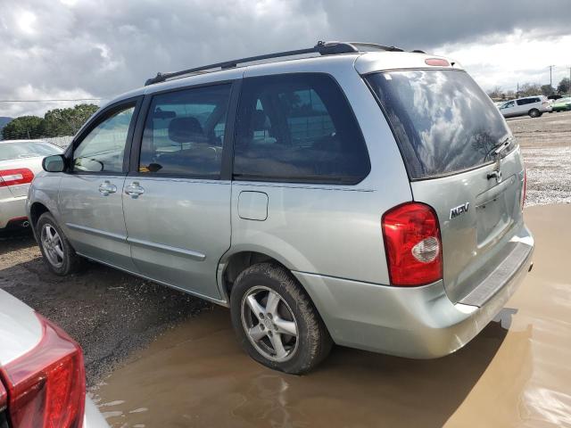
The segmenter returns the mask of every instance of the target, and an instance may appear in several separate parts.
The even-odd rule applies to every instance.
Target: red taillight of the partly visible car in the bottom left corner
[[[79,428],[86,376],[79,345],[37,315],[43,337],[36,348],[0,368],[13,428]]]

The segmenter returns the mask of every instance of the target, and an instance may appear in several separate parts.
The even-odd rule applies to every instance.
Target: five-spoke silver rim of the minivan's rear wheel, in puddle
[[[264,358],[284,362],[294,357],[299,328],[282,296],[268,287],[252,287],[244,294],[241,312],[244,333]]]

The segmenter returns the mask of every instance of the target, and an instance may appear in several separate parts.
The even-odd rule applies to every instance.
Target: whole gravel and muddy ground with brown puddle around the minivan
[[[571,112],[509,126],[525,156],[527,204],[571,202]],[[538,243],[533,274],[501,322],[432,362],[336,348],[310,376],[269,372],[237,349],[225,309],[96,264],[54,276],[30,235],[0,238],[0,288],[78,340],[113,426],[571,426],[562,270],[571,205],[525,215]]]

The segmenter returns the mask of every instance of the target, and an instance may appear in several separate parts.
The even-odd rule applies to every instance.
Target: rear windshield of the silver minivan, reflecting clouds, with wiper
[[[489,163],[493,148],[511,136],[500,111],[465,71],[385,71],[365,78],[412,180]]]

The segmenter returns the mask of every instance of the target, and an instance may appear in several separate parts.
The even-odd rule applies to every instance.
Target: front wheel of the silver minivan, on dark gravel
[[[84,259],[76,254],[49,212],[45,212],[37,220],[36,236],[47,268],[55,275],[67,276],[83,267]]]

